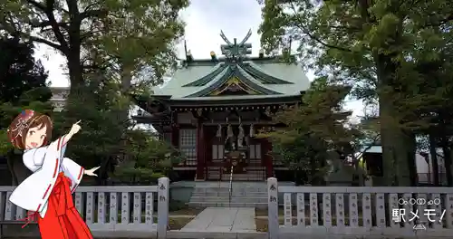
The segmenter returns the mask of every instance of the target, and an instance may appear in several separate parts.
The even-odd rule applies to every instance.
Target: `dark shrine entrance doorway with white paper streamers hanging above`
[[[219,123],[217,123],[219,122]],[[228,119],[206,123],[205,179],[211,181],[262,181],[267,177],[268,148],[255,138],[254,122]]]

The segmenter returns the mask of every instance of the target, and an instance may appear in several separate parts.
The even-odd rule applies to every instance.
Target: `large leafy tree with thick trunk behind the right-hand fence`
[[[288,39],[301,43],[301,62],[353,86],[380,105],[384,179],[409,186],[415,178],[415,137],[408,98],[422,79],[408,79],[419,61],[439,59],[451,40],[450,1],[266,0],[260,31],[267,51]],[[413,81],[418,83],[413,84]],[[412,84],[411,84],[412,83]],[[404,109],[404,110],[401,110]],[[419,122],[417,122],[419,123]]]

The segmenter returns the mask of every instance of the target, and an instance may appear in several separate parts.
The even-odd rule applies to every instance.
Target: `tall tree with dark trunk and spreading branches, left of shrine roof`
[[[70,98],[81,98],[76,95],[85,84],[84,70],[99,60],[92,51],[104,53],[102,61],[114,67],[127,62],[128,74],[150,65],[159,81],[174,60],[169,49],[183,32],[178,12],[187,5],[187,0],[6,0],[0,3],[0,30],[62,53]]]

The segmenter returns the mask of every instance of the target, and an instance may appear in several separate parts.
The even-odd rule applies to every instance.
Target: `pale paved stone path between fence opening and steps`
[[[207,207],[180,232],[256,232],[255,208]]]

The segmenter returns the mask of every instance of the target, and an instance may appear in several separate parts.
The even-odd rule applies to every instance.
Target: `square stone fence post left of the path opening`
[[[158,238],[167,238],[169,225],[169,177],[160,177],[158,183]]]

